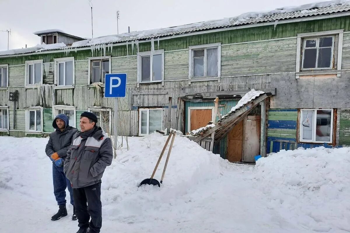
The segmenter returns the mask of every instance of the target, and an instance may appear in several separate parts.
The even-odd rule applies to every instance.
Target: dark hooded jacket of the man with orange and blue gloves
[[[57,118],[62,119],[65,123],[63,131],[61,131],[56,124]],[[69,126],[69,119],[65,114],[58,114],[52,122],[52,127],[56,130],[50,134],[50,139],[45,149],[46,155],[50,157],[53,153],[57,152],[58,156],[64,160],[72,143],[73,135],[78,130]]]

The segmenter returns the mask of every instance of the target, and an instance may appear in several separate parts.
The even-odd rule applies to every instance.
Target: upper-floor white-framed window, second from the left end
[[[42,83],[43,60],[26,61],[26,86],[34,86]]]

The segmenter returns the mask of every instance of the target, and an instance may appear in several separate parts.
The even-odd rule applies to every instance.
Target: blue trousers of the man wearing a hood
[[[54,181],[54,194],[58,205],[64,205],[67,201],[65,199],[65,189],[68,187],[70,194],[70,204],[74,205],[73,189],[70,181],[67,179],[63,172],[63,166],[57,167],[52,163],[52,179]]]

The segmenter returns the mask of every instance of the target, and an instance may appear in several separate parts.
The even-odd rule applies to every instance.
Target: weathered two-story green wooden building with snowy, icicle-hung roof
[[[113,131],[104,75],[127,73],[123,135],[198,129],[215,97],[223,116],[254,88],[269,95],[216,142],[223,158],[251,161],[260,141],[262,154],[350,145],[349,15],[327,2],[93,39],[37,32],[41,45],[0,52],[1,135],[45,136],[59,113],[79,129],[83,111]]]

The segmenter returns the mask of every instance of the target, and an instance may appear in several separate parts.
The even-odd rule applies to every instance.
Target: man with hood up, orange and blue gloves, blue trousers
[[[66,178],[63,172],[64,160],[67,156],[67,151],[72,143],[73,135],[78,131],[76,128],[69,126],[69,119],[65,114],[58,114],[52,126],[56,129],[50,134],[50,139],[46,145],[46,154],[52,160],[52,179],[54,181],[54,194],[59,206],[58,212],[51,217],[51,220],[58,220],[67,216],[66,209],[66,192],[68,187],[70,194],[70,203],[73,205],[72,220],[77,220],[75,206],[73,200],[73,191],[70,181]]]

